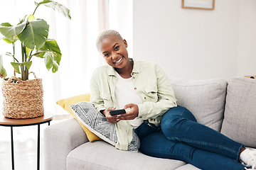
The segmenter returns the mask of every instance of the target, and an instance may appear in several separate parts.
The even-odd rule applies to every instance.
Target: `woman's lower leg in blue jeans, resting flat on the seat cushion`
[[[204,170],[242,170],[245,168],[234,159],[197,149],[182,142],[168,140],[161,131],[144,137],[139,150],[151,157],[177,159]]]

